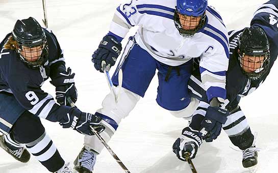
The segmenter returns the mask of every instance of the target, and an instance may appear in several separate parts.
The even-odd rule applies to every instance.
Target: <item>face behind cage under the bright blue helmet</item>
[[[201,17],[187,16],[180,13],[178,13],[178,15],[184,30],[194,30],[201,19]]]

